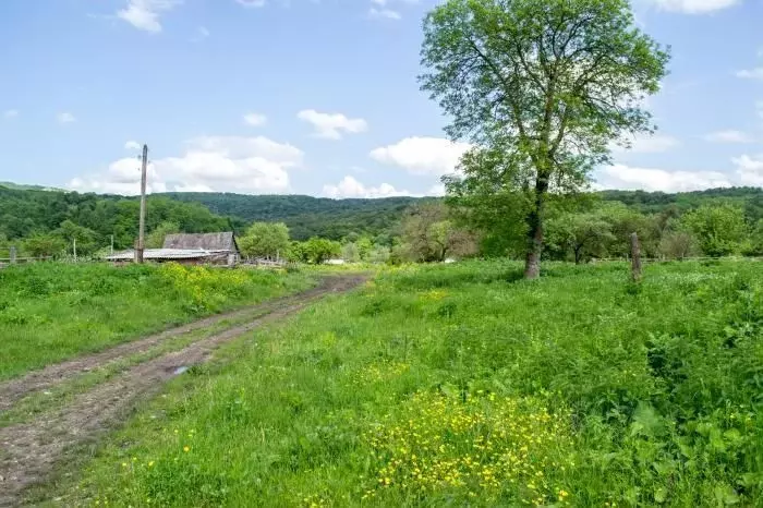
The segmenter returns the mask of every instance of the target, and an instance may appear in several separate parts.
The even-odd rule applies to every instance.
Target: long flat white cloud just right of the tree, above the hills
[[[732,186],[728,176],[719,171],[666,171],[664,169],[634,168],[621,164],[600,169],[596,182],[596,186],[600,189],[650,192],[687,192]]]

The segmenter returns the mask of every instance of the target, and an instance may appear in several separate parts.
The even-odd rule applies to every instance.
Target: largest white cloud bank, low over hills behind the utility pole
[[[185,145],[183,155],[150,162],[149,192],[287,192],[288,170],[301,166],[304,157],[292,145],[262,136],[202,136]],[[137,167],[135,158],[120,159],[100,173],[73,179],[69,186],[77,191],[137,194]]]

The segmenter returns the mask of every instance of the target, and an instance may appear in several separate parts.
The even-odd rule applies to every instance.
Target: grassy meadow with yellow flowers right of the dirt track
[[[173,380],[92,506],[761,506],[763,268],[403,267]]]

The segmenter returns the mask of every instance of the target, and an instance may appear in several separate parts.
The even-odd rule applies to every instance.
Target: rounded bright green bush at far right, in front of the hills
[[[704,205],[683,216],[702,252],[708,256],[727,256],[742,251],[748,238],[744,210],[734,205]]]

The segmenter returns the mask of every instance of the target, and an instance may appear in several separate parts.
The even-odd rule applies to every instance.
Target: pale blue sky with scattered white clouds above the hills
[[[419,89],[434,0],[1,0],[0,181],[436,195],[469,148]],[[600,189],[763,186],[763,0],[634,0],[673,50],[658,131]]]

